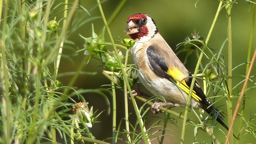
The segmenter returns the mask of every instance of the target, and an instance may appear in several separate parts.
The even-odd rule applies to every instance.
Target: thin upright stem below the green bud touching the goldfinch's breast
[[[129,55],[129,49],[126,49],[125,53],[125,62],[124,62],[124,67],[125,67],[125,72],[127,68],[127,63],[128,63],[128,55]],[[125,112],[125,126],[126,126],[126,135],[128,137],[129,143],[131,143],[131,137],[130,137],[130,128],[129,128],[129,121],[128,121],[128,116],[129,116],[129,111],[128,111],[128,95],[127,95],[127,84],[124,82],[124,112]]]

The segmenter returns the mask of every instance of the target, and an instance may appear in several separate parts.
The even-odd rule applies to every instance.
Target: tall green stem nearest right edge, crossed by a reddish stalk
[[[252,0],[252,2],[254,2],[254,0]],[[252,35],[253,35],[253,28],[254,28],[254,18],[255,18],[255,7],[254,7],[254,3],[252,3],[252,24],[251,24],[251,33],[250,33],[248,52],[247,52],[247,62],[249,62],[250,59],[251,59]],[[249,66],[250,66],[249,63],[246,64],[245,75],[248,74]],[[245,89],[247,89],[247,84],[246,84]],[[244,97],[245,96],[246,96],[246,91],[244,93]],[[239,141],[240,141],[240,138],[241,138],[241,130],[242,130],[242,125],[243,125],[244,108],[245,108],[245,98],[243,98],[243,102],[242,102],[242,108],[241,108],[241,115],[242,116],[240,117],[240,123],[239,123],[239,128],[238,128],[238,136],[237,136],[236,144],[239,144]]]

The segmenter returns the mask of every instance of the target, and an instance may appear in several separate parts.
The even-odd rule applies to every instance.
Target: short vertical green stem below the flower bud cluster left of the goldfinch
[[[114,79],[114,74],[111,75],[112,79]],[[113,93],[113,144],[116,143],[116,89],[114,81],[111,81],[111,88]]]

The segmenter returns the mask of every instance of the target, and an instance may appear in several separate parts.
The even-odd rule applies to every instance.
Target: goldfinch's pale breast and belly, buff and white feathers
[[[170,80],[158,75],[151,68],[147,56],[147,48],[149,45],[150,44],[145,44],[141,46],[140,44],[135,44],[137,47],[132,48],[133,60],[136,68],[139,70],[138,76],[141,83],[154,95],[161,95],[170,102],[186,105],[186,100],[175,84],[173,84]]]

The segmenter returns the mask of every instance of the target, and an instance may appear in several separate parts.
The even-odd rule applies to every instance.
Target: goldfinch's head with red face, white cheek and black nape
[[[131,15],[127,23],[125,30],[133,40],[147,41],[158,32],[155,21],[145,13]]]

